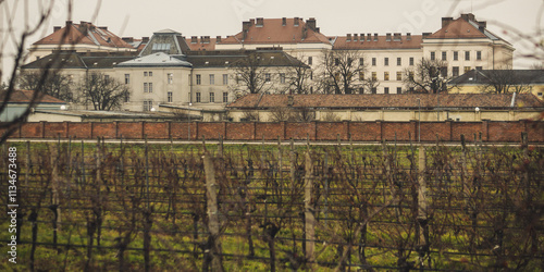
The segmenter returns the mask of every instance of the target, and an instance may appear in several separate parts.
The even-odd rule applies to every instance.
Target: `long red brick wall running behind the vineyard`
[[[421,135],[419,135],[421,132]],[[468,140],[473,135],[490,143],[517,143],[527,132],[531,143],[544,143],[544,122],[309,122],[309,123],[230,123],[230,122],[111,122],[72,123],[39,122],[22,124],[12,138],[73,138],[92,139],[219,139],[225,140],[398,140],[421,137],[422,141]]]

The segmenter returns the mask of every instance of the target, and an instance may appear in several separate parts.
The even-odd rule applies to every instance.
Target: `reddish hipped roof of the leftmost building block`
[[[108,27],[97,27],[88,22],[73,24],[66,21],[66,25],[36,41],[33,46],[39,45],[89,45],[112,48],[134,49],[122,38],[108,30]]]

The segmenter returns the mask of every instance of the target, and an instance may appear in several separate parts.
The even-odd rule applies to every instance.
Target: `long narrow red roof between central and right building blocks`
[[[334,40],[333,49],[420,49],[423,36],[412,35],[409,39],[407,36],[401,36],[400,39],[394,39],[392,37],[391,40],[387,40],[387,36],[378,36],[378,40],[374,40],[373,36],[371,36],[370,40],[362,36],[361,39],[355,41],[350,38],[348,41],[347,36],[337,37]]]

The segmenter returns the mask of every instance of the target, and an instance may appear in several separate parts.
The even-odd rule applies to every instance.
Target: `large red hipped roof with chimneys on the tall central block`
[[[326,44],[331,42],[309,18],[257,18],[243,22],[240,33],[230,36],[222,44]]]

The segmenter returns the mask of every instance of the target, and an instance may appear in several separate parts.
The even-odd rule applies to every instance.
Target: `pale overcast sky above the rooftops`
[[[53,26],[65,24],[67,1],[55,0],[51,18],[44,29],[29,38],[30,44],[52,33]],[[7,28],[5,14],[15,14],[15,21],[23,25],[24,2],[5,0],[0,4],[0,29]],[[32,18],[39,9],[37,2],[46,0],[27,2],[32,5]],[[531,36],[539,33],[542,37],[540,28],[544,27],[544,23],[540,21],[543,4],[544,0],[76,0],[71,20],[92,21],[122,37],[150,37],[153,32],[164,28],[177,30],[184,36],[214,37],[234,35],[240,32],[242,21],[254,17],[298,16],[305,20],[316,17],[323,34],[335,36],[347,33],[435,32],[441,27],[441,17],[458,17],[460,13],[472,12],[477,20],[489,22],[487,28],[514,44],[517,48],[515,67],[527,69],[534,61],[518,58],[527,52],[527,44],[519,44],[519,38],[511,35],[512,29],[505,33],[504,26]],[[95,17],[97,8],[99,11]],[[2,34],[1,38],[5,40],[5,35]],[[2,58],[4,81],[9,61]]]

